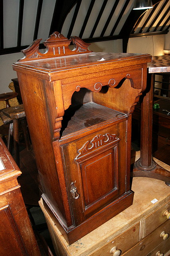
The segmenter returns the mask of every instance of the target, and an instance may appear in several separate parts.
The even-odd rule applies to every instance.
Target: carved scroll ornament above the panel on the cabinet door
[[[110,143],[118,142],[120,139],[116,137],[116,134],[106,133],[104,135],[98,134],[91,141],[87,141],[82,148],[78,150],[78,156],[75,158],[78,159],[88,153],[93,152],[94,150],[100,149],[104,146],[107,146]]]

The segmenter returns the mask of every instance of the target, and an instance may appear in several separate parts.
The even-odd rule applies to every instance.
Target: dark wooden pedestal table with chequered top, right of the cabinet
[[[170,172],[152,159],[153,74],[170,71],[169,56],[155,56],[148,63],[147,89],[141,104],[141,157],[134,164],[133,177],[163,180],[170,186]]]

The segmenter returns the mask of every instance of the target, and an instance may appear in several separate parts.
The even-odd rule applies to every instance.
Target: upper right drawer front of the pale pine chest
[[[167,220],[166,216],[164,216],[164,212],[166,210],[170,210],[170,201],[166,202],[165,204],[160,206],[157,210],[154,210],[149,216],[144,218],[143,238],[149,235],[153,230],[155,230],[158,226],[160,226],[162,223],[164,223]]]

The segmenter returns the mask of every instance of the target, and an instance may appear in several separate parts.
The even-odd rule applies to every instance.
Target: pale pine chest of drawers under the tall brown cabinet
[[[135,192],[132,206],[70,246],[59,231],[59,225],[45,210],[41,199],[40,207],[57,255],[159,256],[156,253],[160,251],[162,256],[169,256],[169,187],[160,180],[140,177],[133,178],[132,190]]]

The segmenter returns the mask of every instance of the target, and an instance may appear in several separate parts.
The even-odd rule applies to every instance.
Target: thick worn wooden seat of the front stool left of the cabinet
[[[11,119],[20,119],[25,117],[25,110],[23,108],[23,104],[10,108],[4,108],[2,112],[4,115],[8,116],[8,118]]]

